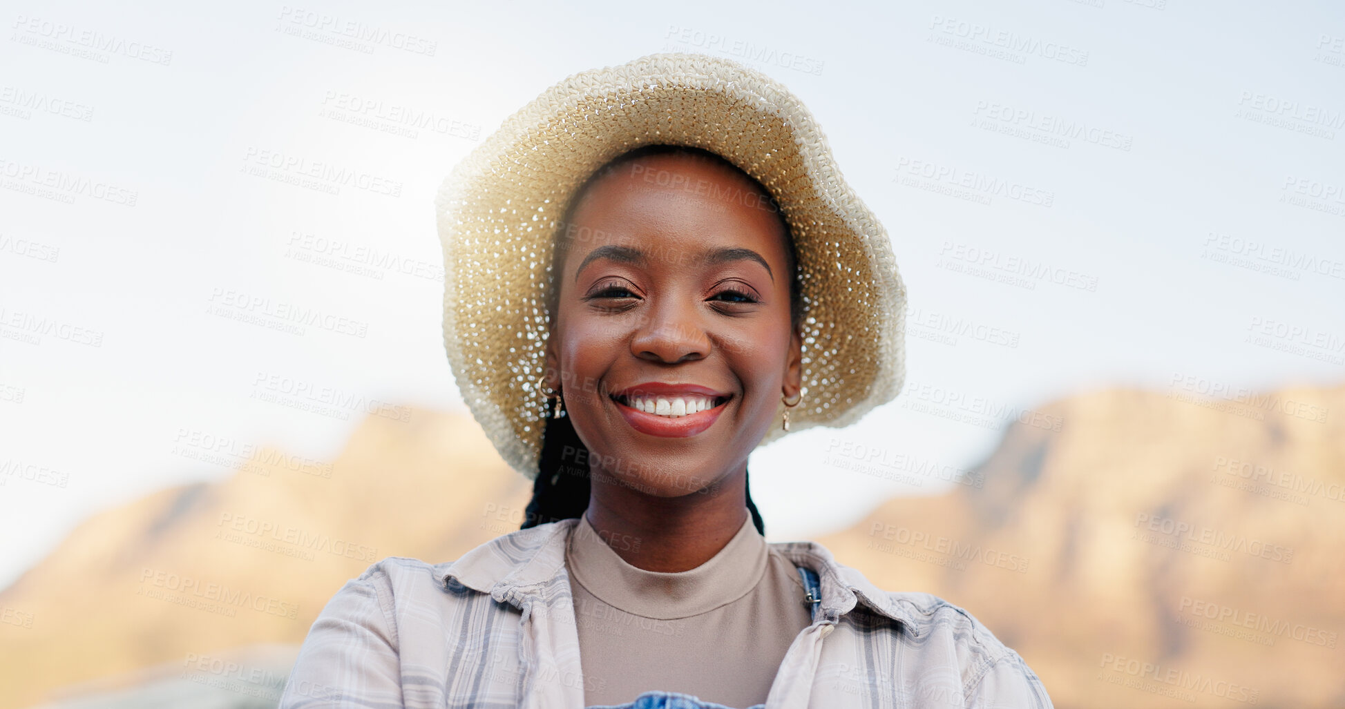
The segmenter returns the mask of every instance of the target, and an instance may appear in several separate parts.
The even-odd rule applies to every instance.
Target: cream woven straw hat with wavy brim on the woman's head
[[[841,176],[812,114],[737,62],[654,54],[574,74],[511,116],[444,180],[444,346],[476,421],[535,479],[546,398],[546,293],[574,190],[642,145],[726,157],[780,204],[803,289],[803,400],[790,432],[843,426],[905,379],[907,292],[888,234]],[[776,414],[783,413],[783,402]],[[787,435],[772,426],[763,439]]]

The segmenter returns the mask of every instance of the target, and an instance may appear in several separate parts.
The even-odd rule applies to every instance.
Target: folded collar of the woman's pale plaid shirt
[[[440,564],[434,580],[449,589],[449,579],[488,593],[500,603],[522,608],[542,597],[542,589],[553,584],[569,584],[565,569],[565,545],[578,518],[561,519],[496,537],[457,561]],[[771,542],[790,561],[818,573],[822,585],[820,611],[830,622],[839,620],[858,603],[878,615],[916,627],[912,611],[892,599],[886,591],[873,585],[858,569],[838,562],[831,552],[818,542]]]

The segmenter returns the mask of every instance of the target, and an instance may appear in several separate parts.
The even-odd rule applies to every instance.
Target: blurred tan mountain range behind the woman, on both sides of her
[[[1345,387],[1080,394],[1010,425],[975,484],[818,541],[967,608],[1060,708],[1345,706],[1342,416]],[[529,492],[475,421],[412,410],[331,464],[260,451],[97,515],[0,592],[0,708],[274,705],[346,580],[457,558],[518,529]]]

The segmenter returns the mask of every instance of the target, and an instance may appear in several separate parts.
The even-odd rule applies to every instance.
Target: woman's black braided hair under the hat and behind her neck
[[[799,287],[798,281],[798,256],[790,223],[784,219],[784,214],[776,204],[775,198],[760,182],[718,153],[702,148],[666,144],[644,145],[642,148],[627,151],[596,170],[592,175],[589,175],[584,184],[574,191],[574,196],[570,199],[561,223],[570,223],[570,217],[573,215],[580,198],[599,178],[611,174],[615,168],[631,160],[650,155],[668,153],[690,155],[729,167],[753,184],[760,194],[767,196],[769,206],[779,217],[780,225],[784,227],[787,246],[785,270],[792,274],[790,278],[790,320],[795,330],[798,330],[803,313],[803,289]],[[566,229],[561,229],[557,238],[564,238],[566,231]],[[553,313],[551,322],[555,322],[554,313],[557,312],[558,288],[555,287],[555,278],[557,274],[561,273],[565,252],[566,249],[560,244],[553,252],[553,284],[547,301],[549,311]],[[547,400],[546,414],[542,418],[542,455],[537,465],[537,478],[533,480],[533,499],[527,503],[527,509],[523,515],[523,525],[519,529],[529,529],[549,522],[558,522],[561,519],[578,518],[582,517],[584,511],[588,509],[589,492],[592,490],[588,467],[589,451],[588,447],[584,445],[584,441],[580,440],[578,433],[574,432],[574,425],[570,421],[570,417],[566,413],[557,417],[555,408],[555,398]],[[765,522],[761,519],[761,513],[757,511],[756,503],[752,502],[752,488],[748,486],[746,471],[742,474],[742,484],[746,487],[746,505],[748,513],[752,515],[752,525],[756,526],[757,533],[765,535]]]

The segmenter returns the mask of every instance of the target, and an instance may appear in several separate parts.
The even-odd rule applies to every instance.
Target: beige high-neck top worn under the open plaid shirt
[[[582,515],[565,565],[588,706],[654,689],[738,709],[764,704],[785,651],[812,623],[799,572],[751,515],[724,549],[685,572],[632,566]]]

